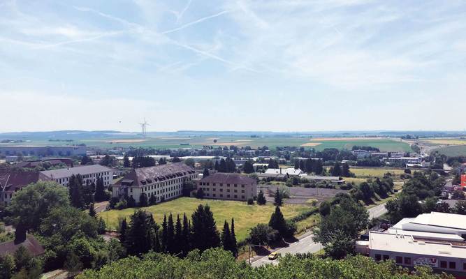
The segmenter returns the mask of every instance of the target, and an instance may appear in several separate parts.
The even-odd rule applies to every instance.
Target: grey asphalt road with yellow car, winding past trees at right
[[[385,208],[385,204],[379,204],[378,206],[374,206],[370,209],[367,209],[367,212],[369,213],[369,219],[373,219],[384,215],[387,212],[387,210]],[[272,252],[279,252],[281,255],[295,255],[298,253],[307,252],[315,253],[321,250],[321,243],[315,243],[314,241],[312,241],[311,232],[307,232],[306,234],[303,234],[303,236],[301,237],[302,238],[299,241],[291,243],[290,246],[281,248],[279,250],[274,250]],[[263,264],[278,264],[279,261],[277,259],[271,261],[270,259],[268,259],[268,256],[256,256],[252,257],[251,262],[252,266],[261,266]]]

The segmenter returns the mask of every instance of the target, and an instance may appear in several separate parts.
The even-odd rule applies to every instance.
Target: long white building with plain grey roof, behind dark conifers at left
[[[103,165],[82,165],[79,167],[67,167],[63,169],[52,169],[41,172],[48,180],[57,181],[67,186],[71,176],[80,175],[83,183],[96,183],[99,177],[103,177],[103,185],[110,186],[112,183],[113,169]]]

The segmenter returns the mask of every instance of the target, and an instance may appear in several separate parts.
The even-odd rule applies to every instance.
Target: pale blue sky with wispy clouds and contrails
[[[466,2],[0,0],[0,132],[465,130]]]

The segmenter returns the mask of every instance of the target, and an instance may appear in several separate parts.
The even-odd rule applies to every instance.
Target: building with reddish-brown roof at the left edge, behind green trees
[[[36,183],[39,180],[47,180],[47,178],[39,172],[0,172],[0,201],[9,204],[15,192],[31,183]]]

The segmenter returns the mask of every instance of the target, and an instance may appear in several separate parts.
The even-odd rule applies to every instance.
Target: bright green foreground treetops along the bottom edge
[[[417,266],[414,271],[397,266],[393,261],[374,262],[361,255],[341,260],[313,255],[286,255],[279,264],[254,268],[238,262],[230,253],[219,248],[199,252],[194,250],[184,259],[149,253],[142,258],[128,257],[103,266],[99,271],[85,271],[78,279],[453,279],[453,276],[432,273],[428,266]]]

